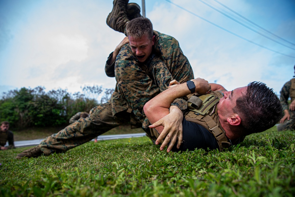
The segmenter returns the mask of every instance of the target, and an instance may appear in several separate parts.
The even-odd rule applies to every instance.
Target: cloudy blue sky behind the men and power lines
[[[141,6],[141,0],[130,2]],[[195,77],[217,82],[228,90],[261,81],[277,93],[293,77],[295,1],[219,0],[293,44],[263,32],[214,0],[206,1],[286,46],[249,30],[201,1],[172,2],[178,6],[165,0],[146,1],[146,17],[155,30],[179,41]],[[0,94],[37,86],[69,92],[81,91],[84,85],[113,88],[115,79],[106,76],[104,65],[124,35],[106,25],[111,10],[112,1],[106,0],[0,0]]]

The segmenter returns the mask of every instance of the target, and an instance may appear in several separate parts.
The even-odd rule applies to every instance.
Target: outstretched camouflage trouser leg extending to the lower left
[[[80,118],[58,133],[45,138],[39,147],[45,155],[65,152],[129,121],[130,113],[126,110],[112,115],[112,105],[109,100],[91,109],[89,117]]]

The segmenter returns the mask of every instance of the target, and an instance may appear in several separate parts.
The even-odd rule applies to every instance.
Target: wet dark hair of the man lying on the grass
[[[273,127],[283,115],[277,95],[262,82],[249,83],[246,93],[237,99],[233,111],[241,118],[242,136]]]

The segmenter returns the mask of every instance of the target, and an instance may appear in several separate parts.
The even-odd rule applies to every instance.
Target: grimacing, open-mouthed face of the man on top
[[[144,62],[152,53],[153,45],[155,44],[155,35],[152,39],[144,35],[141,38],[133,38],[128,36],[132,53],[136,56],[139,62]]]

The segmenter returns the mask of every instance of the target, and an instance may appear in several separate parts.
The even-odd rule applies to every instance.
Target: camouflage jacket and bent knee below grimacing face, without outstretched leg
[[[112,102],[117,103],[114,105],[128,103],[137,120],[145,123],[144,129],[148,129],[143,112],[144,104],[167,89],[173,79],[183,83],[194,78],[178,41],[157,31],[154,31],[154,35],[153,53],[144,63],[137,61],[130,45],[126,44],[118,54],[115,64],[116,92],[121,97]],[[113,114],[117,112],[114,108]]]

